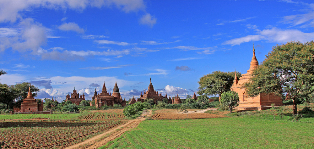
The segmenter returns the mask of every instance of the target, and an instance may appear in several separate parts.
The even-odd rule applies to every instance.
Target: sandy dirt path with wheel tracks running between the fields
[[[100,146],[104,146],[109,141],[112,141],[112,140],[120,137],[127,130],[130,130],[132,128],[136,128],[140,122],[142,122],[143,120],[148,118],[151,114],[152,114],[151,110],[143,110],[142,115],[139,116],[137,119],[133,119],[133,120],[127,122],[126,124],[112,128],[111,130],[108,130],[105,133],[102,133],[100,135],[97,135],[95,137],[87,139],[87,140],[80,142],[78,144],[75,144],[73,146],[68,146],[65,149],[72,149],[72,148],[94,149],[94,148],[98,148]],[[109,136],[104,137],[106,135],[109,135]]]

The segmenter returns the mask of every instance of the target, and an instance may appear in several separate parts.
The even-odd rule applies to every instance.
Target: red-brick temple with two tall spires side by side
[[[104,85],[102,87],[102,91],[100,94],[97,94],[97,91],[95,89],[95,97],[92,97],[93,100],[95,100],[95,105],[96,108],[101,107],[103,105],[108,105],[108,106],[113,106],[114,104],[120,104],[121,106],[125,106],[126,105],[126,101],[125,99],[122,100],[122,97],[120,95],[119,92],[119,88],[117,85],[117,82],[113,88],[113,93],[111,95],[107,92],[107,88],[105,86],[105,81],[104,81]]]

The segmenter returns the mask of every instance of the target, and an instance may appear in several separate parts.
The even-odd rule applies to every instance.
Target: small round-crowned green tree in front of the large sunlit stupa
[[[227,91],[221,94],[220,103],[228,106],[230,113],[232,113],[232,108],[239,106],[238,102],[240,102],[239,95],[235,91]]]

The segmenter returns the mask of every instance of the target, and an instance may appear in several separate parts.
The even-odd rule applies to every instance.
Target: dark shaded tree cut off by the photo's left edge
[[[9,86],[6,84],[0,84],[0,102],[5,104],[7,109],[13,109],[14,93],[9,90]]]

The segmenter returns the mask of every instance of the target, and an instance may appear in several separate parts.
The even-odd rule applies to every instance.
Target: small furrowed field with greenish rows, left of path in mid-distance
[[[82,116],[79,116],[78,119],[124,119],[123,109],[109,109],[109,110],[92,110]]]

